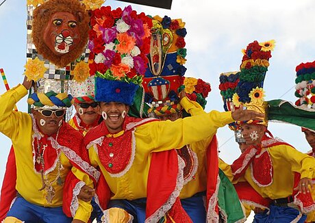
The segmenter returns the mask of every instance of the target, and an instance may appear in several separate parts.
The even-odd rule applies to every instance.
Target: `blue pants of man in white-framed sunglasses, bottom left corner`
[[[62,207],[42,207],[31,204],[22,197],[16,198],[10,211],[7,214],[25,221],[25,223],[42,223],[42,222],[62,222],[71,223],[72,218],[66,217]]]

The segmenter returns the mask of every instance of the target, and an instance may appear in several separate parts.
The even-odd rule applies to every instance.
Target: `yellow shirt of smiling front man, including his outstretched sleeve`
[[[231,112],[212,111],[209,114],[179,119],[174,122],[166,120],[142,124],[136,127],[134,132],[136,139],[134,162],[123,176],[111,177],[101,164],[93,146],[89,148],[90,161],[93,166],[99,166],[105,176],[112,192],[111,199],[145,198],[147,197],[147,178],[151,163],[150,153],[182,148],[186,144],[199,142],[214,135],[218,127],[223,127],[233,121]],[[123,131],[118,135],[122,133]],[[108,135],[103,143],[110,142],[110,137]]]

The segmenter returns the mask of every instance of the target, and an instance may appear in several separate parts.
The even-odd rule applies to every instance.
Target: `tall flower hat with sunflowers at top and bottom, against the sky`
[[[269,66],[271,51],[275,47],[275,40],[267,42],[251,42],[247,49],[243,49],[242,64],[240,65],[239,81],[232,102],[236,109],[243,105],[246,109],[266,114],[264,101],[264,78]],[[249,120],[247,123],[268,125],[267,118],[261,121]]]

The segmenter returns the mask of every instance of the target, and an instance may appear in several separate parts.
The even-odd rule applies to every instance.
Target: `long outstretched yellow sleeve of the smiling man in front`
[[[217,112],[201,114],[188,118],[149,122],[138,127],[136,137],[142,137],[153,148],[153,152],[181,148],[192,142],[199,142],[212,137],[219,127],[234,122],[231,112]],[[148,148],[149,149],[149,148]]]

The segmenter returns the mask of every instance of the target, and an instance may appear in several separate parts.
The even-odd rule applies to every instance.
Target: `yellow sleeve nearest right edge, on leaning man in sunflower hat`
[[[315,158],[305,153],[301,153],[295,148],[287,145],[275,146],[270,149],[275,157],[282,157],[291,164],[291,170],[293,172],[299,172],[302,178],[310,178],[315,173]]]

